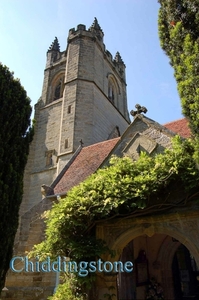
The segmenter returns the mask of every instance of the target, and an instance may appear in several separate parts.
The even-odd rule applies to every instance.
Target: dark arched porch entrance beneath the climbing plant
[[[162,294],[167,300],[199,299],[195,259],[175,238],[166,234],[138,236],[124,247],[120,259],[133,261],[134,271],[118,274],[118,300],[147,299],[157,287],[157,299]]]

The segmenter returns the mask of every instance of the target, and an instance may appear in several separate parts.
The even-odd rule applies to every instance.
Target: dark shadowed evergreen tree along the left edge
[[[26,91],[0,64],[0,291],[12,257],[23,194],[29,144],[31,105]]]

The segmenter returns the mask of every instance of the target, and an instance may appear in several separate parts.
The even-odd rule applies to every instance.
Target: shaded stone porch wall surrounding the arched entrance
[[[97,237],[104,239],[109,248],[115,251],[114,257],[111,257],[109,254],[104,255],[104,261],[119,261],[124,247],[132,240],[135,240],[134,251],[136,255],[138,253],[138,248],[140,250],[146,245],[146,242],[143,239],[145,239],[145,237],[154,237],[155,243],[157,243],[159,247],[155,249],[155,245],[151,245],[151,249],[147,248],[148,251],[151,251],[148,259],[150,259],[150,263],[152,263],[152,265],[150,265],[150,268],[153,271],[152,275],[156,275],[157,279],[163,286],[166,300],[174,299],[171,266],[173,255],[180,243],[187,247],[199,266],[198,232],[198,207],[197,209],[193,207],[193,209],[190,210],[184,209],[181,210],[181,212],[166,213],[156,216],[151,215],[140,218],[132,217],[128,219],[121,218],[114,221],[107,221],[97,226]],[[173,243],[171,237],[173,237],[177,242]],[[139,240],[136,240],[136,238],[139,238]],[[96,299],[103,297],[105,293],[108,293],[108,288],[110,286],[114,286],[116,297],[114,297],[113,300],[116,300],[116,276],[110,276],[111,274],[109,274],[109,277],[107,278],[105,275],[106,274],[104,274],[103,277],[102,274],[100,274],[98,277],[98,292]],[[141,290],[139,291],[138,289],[137,292],[142,295]]]

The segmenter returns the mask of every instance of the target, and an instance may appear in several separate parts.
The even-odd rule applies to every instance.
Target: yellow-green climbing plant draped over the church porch
[[[91,261],[107,251],[104,242],[95,237],[97,224],[186,205],[199,182],[192,155],[192,142],[176,137],[172,150],[155,157],[145,153],[138,161],[113,157],[109,167],[99,169],[46,212],[46,239],[31,255],[41,260],[60,255],[77,262]],[[172,189],[176,183],[183,197],[174,202]],[[89,280],[93,278],[78,279],[82,284]]]

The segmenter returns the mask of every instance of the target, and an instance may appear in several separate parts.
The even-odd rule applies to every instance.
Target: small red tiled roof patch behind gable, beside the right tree
[[[188,126],[188,121],[185,118],[166,123],[166,124],[164,124],[164,127],[166,127],[167,129],[169,129],[175,133],[178,133],[179,135],[181,135],[184,138],[191,137],[191,131]]]

